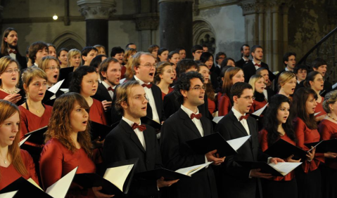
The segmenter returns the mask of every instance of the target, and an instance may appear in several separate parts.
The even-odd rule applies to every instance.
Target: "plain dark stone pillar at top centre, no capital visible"
[[[186,57],[192,58],[193,0],[159,0],[160,47],[169,51],[186,48]]]

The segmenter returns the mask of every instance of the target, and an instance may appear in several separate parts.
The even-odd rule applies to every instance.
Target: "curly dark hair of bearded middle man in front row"
[[[180,76],[177,83],[174,85],[174,96],[181,105],[184,103],[184,95],[182,95],[180,91],[189,91],[191,88],[191,79],[200,79],[203,82],[203,76],[198,72],[186,72]]]

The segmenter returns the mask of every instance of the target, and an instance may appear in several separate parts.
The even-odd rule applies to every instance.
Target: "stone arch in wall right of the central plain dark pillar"
[[[213,27],[205,20],[193,21],[193,45],[208,46],[208,51],[215,53],[215,33]]]

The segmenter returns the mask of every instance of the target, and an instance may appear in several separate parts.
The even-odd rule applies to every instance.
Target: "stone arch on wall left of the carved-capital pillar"
[[[63,32],[53,39],[51,44],[56,46],[56,51],[59,51],[61,48],[68,48],[69,50],[77,48],[81,51],[86,46],[85,41],[74,32]]]

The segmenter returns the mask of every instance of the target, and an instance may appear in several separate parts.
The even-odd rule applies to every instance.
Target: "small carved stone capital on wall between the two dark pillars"
[[[136,19],[136,29],[139,31],[158,29],[158,13],[141,13],[138,15],[134,15],[134,18]]]

